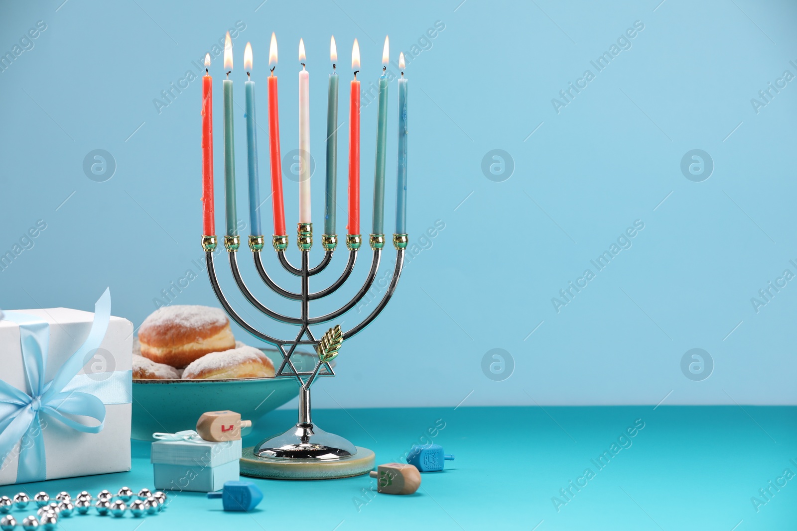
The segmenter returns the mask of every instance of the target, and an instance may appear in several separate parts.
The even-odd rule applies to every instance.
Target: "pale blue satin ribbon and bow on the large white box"
[[[43,481],[47,478],[41,416],[47,416],[69,428],[84,433],[99,433],[105,422],[105,404],[128,404],[132,401],[132,372],[117,371],[103,381],[78,375],[88,353],[100,346],[111,318],[111,293],[108,289],[94,305],[94,318],[88,338],[61,365],[51,381],[45,381],[49,349],[49,323],[33,315],[6,311],[6,321],[20,329],[22,363],[29,394],[0,380],[0,402],[17,408],[0,417],[0,463],[21,442],[17,482]],[[103,396],[100,400],[97,396]],[[69,416],[87,416],[99,424],[81,424]]]

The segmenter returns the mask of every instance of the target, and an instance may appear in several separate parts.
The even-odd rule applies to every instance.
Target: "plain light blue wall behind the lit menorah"
[[[283,154],[298,143],[296,47],[304,37],[317,163],[316,229],[323,221],[330,33],[340,53],[345,117],[354,37],[363,53],[365,87],[379,75],[385,34],[396,57],[442,21],[445,29],[410,61],[406,76],[410,239],[418,243],[438,220],[445,228],[420,242],[424,248],[406,267],[395,299],[344,347],[339,376],[319,386],[316,406],[658,404],[662,399],[665,404],[797,404],[797,287],[788,283],[758,313],[750,301],[784,269],[797,273],[789,264],[797,261],[792,209],[797,82],[759,113],[750,103],[784,70],[797,74],[789,63],[797,60],[797,8],[791,2],[750,0],[658,2],[453,0],[388,7],[336,0],[308,4],[304,13],[299,4],[281,0],[190,7],[150,0],[4,2],[0,53],[10,51],[37,21],[45,21],[47,29],[33,49],[0,72],[0,254],[37,220],[47,228],[33,248],[0,271],[0,307],[90,310],[110,286],[113,313],[138,326],[155,310],[153,299],[163,289],[187,270],[198,271],[200,82],[160,113],[153,100],[194,69],[191,61],[201,59],[236,21],[246,27],[234,43],[232,79],[242,109],[242,53],[251,41],[265,190],[269,36],[276,31],[280,45]],[[590,61],[634,21],[642,21],[644,29],[631,48],[557,113],[552,98],[585,69],[595,73]],[[212,68],[219,232],[220,59]],[[391,146],[396,97],[393,83]],[[363,108],[363,232],[370,227],[375,115],[375,103]],[[246,220],[242,110],[235,119],[238,214]],[[347,124],[339,132],[342,235]],[[116,160],[116,174],[107,182],[92,182],[82,169],[84,156],[95,149],[108,150]],[[504,182],[482,173],[482,158],[493,149],[507,151],[513,160],[514,172]],[[704,182],[681,174],[681,158],[693,149],[713,158],[713,174]],[[387,174],[391,231],[395,152],[388,157]],[[297,217],[297,192],[296,183],[286,179],[289,232]],[[270,233],[270,201],[263,209]],[[557,313],[552,297],[635,220],[645,228],[633,246]],[[296,260],[293,238],[290,256]],[[320,254],[316,243],[313,260]],[[361,254],[354,280],[363,279],[370,262],[370,251]],[[241,255],[254,283],[249,252]],[[267,258],[274,270],[274,257]],[[339,252],[316,286],[336,276],[344,259]],[[232,291],[223,262],[219,269]],[[316,312],[339,306],[355,286],[320,303]],[[257,293],[268,297],[265,288]],[[216,304],[206,275],[199,274],[175,303]],[[274,306],[290,310],[281,299]],[[352,312],[344,328],[357,317]],[[281,330],[265,318],[258,322],[274,334]],[[482,357],[493,348],[507,350],[513,359],[514,372],[505,381],[482,372]],[[693,348],[713,357],[713,373],[704,381],[681,373],[681,357]]]

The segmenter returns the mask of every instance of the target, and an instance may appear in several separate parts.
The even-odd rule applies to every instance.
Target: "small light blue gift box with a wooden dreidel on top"
[[[214,443],[196,431],[155,434],[151,463],[158,490],[212,492],[225,482],[238,481],[241,439]],[[163,438],[162,438],[163,437]]]

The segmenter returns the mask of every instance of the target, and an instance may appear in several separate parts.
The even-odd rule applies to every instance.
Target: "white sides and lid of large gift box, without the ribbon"
[[[107,303],[109,307],[109,295]],[[6,311],[6,318],[0,320],[0,381],[33,396],[36,393],[31,390],[26,376],[26,366],[30,361],[26,365],[22,353],[22,329],[16,322],[7,320],[10,316],[19,314],[40,318],[49,323],[49,348],[44,356],[44,382],[53,381],[61,365],[84,344],[89,330],[92,329],[95,314],[69,308]],[[104,404],[105,413],[104,428],[101,431],[87,433],[69,427],[47,415],[45,404],[42,405],[41,436],[35,440],[44,443],[45,463],[37,463],[35,468],[39,470],[38,474],[45,472],[46,479],[54,479],[130,470],[132,334],[131,322],[124,318],[110,317],[108,330],[99,347],[88,351],[82,369],[69,380],[61,393],[62,396],[78,398],[80,393],[85,392],[99,398]],[[65,402],[66,400],[62,400],[61,403]],[[98,404],[96,400],[93,402]],[[50,405],[57,407],[57,404]],[[13,416],[19,408],[19,405],[0,401],[0,423]],[[90,416],[69,413],[64,416],[86,426],[99,424],[96,418]],[[24,472],[21,474],[22,479],[18,478],[21,468],[19,456],[24,446],[20,439],[7,455],[0,455],[0,459],[5,457],[0,467],[0,485],[36,480]]]

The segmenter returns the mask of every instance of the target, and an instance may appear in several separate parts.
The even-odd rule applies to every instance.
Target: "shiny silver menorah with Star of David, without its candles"
[[[263,264],[263,256],[261,251],[264,247],[264,236],[249,236],[249,248],[252,251],[255,268],[261,277],[261,280],[271,291],[277,295],[298,301],[300,303],[300,316],[292,317],[289,315],[279,314],[274,310],[269,309],[268,306],[261,303],[246,286],[244,279],[241,277],[241,271],[238,267],[238,248],[240,247],[239,236],[224,236],[224,246],[227,255],[230,259],[230,269],[232,270],[235,283],[245,299],[249,301],[257,310],[273,318],[276,321],[289,323],[299,327],[299,332],[296,338],[281,339],[275,338],[272,335],[266,334],[261,330],[257,330],[254,326],[241,318],[236,310],[230,305],[230,302],[224,295],[221,286],[218,283],[216,270],[214,267],[214,250],[217,247],[216,236],[202,236],[202,248],[205,250],[205,258],[207,263],[208,276],[210,277],[210,284],[213,287],[214,293],[222,307],[230,315],[230,318],[237,322],[241,328],[252,334],[255,338],[261,339],[273,346],[276,346],[281,353],[282,361],[279,369],[275,372],[275,377],[292,377],[296,378],[299,385],[299,420],[296,426],[290,428],[288,431],[280,435],[275,435],[261,441],[253,448],[253,454],[260,459],[265,460],[279,460],[282,463],[295,462],[306,463],[308,461],[316,462],[332,462],[339,461],[340,459],[350,458],[357,453],[355,445],[340,437],[318,428],[312,423],[311,405],[310,405],[310,388],[316,377],[332,377],[335,376],[335,371],[329,364],[330,361],[337,355],[340,345],[344,339],[351,339],[356,334],[359,334],[366,326],[368,326],[379,315],[387,303],[390,301],[393,292],[395,291],[398,277],[401,275],[402,267],[404,264],[404,252],[407,245],[406,234],[394,234],[393,245],[396,249],[395,269],[390,285],[387,291],[383,294],[379,303],[359,324],[352,327],[351,330],[345,332],[340,329],[340,325],[333,326],[328,330],[323,337],[316,338],[313,334],[311,327],[320,325],[325,322],[332,321],[345,314],[348,310],[354,308],[360,300],[371,289],[376,278],[376,273],[379,270],[379,263],[382,257],[382,250],[385,244],[385,236],[383,234],[371,234],[370,244],[373,251],[371,257],[371,269],[359,291],[351,298],[348,303],[340,306],[328,314],[320,315],[319,317],[311,317],[309,313],[310,301],[319,300],[332,295],[340,287],[346,283],[347,279],[354,271],[355,262],[357,261],[357,254],[359,252],[362,239],[359,234],[349,234],[346,236],[346,246],[348,248],[348,260],[344,271],[340,277],[336,279],[328,287],[320,291],[310,291],[310,277],[317,275],[330,264],[332,255],[337,247],[337,235],[324,234],[322,236],[322,244],[324,245],[324,258],[316,267],[310,267],[310,248],[312,248],[312,223],[300,223],[297,228],[297,241],[296,244],[300,250],[301,266],[295,267],[292,265],[288,257],[285,256],[285,250],[288,248],[287,236],[273,236],[273,247],[277,252],[277,257],[280,264],[291,275],[300,278],[300,291],[289,291],[275,283],[265,270]],[[318,353],[318,361],[312,371],[297,370],[291,360],[293,353],[296,352],[296,347],[300,345],[312,346]],[[371,465],[372,466],[372,465]],[[370,467],[369,467],[370,470]]]

